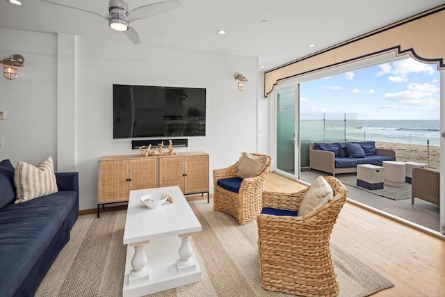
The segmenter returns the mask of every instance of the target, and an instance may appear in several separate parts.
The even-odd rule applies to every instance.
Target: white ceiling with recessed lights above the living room
[[[100,15],[108,0],[51,0]],[[129,10],[159,0],[127,0]],[[39,0],[0,0],[0,28],[131,41],[97,15]],[[444,0],[181,0],[182,7],[131,26],[142,46],[258,57],[265,70],[445,3]],[[268,20],[266,24],[261,21]],[[218,35],[217,31],[227,31]],[[316,47],[309,48],[309,44]],[[138,47],[141,45],[133,45]],[[127,53],[126,53],[127,54]]]

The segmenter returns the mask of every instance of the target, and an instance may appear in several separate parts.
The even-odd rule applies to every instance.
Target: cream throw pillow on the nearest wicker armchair
[[[303,198],[298,216],[306,216],[310,212],[322,207],[334,197],[334,191],[324,177],[319,176]]]

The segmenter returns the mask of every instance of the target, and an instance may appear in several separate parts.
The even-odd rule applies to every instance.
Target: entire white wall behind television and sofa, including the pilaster
[[[0,54],[26,60],[15,81],[0,77],[0,110],[7,117],[0,121],[0,159],[36,164],[59,156],[62,170],[79,172],[81,209],[96,207],[101,156],[138,154],[130,139],[113,140],[113,83],[206,88],[206,136],[188,138],[188,147],[176,150],[208,152],[210,177],[240,152],[257,152],[257,58],[3,29]],[[63,73],[65,66],[70,71]],[[243,92],[235,72],[249,79]],[[73,144],[74,150],[65,146]],[[212,178],[209,186],[213,191]]]

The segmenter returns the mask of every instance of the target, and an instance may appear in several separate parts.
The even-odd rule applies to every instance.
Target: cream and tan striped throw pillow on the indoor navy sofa
[[[58,188],[51,156],[40,162],[37,167],[19,161],[15,166],[14,184],[16,188],[15,204],[56,193]]]

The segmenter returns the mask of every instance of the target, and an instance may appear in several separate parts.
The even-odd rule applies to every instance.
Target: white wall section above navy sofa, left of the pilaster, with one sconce
[[[18,77],[3,77],[0,65],[0,160],[37,164],[47,156],[56,162],[57,37],[55,34],[0,29],[0,60],[24,56]],[[56,164],[55,164],[56,165]]]

